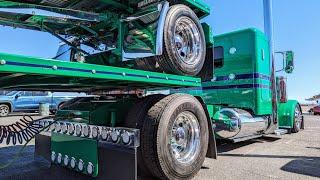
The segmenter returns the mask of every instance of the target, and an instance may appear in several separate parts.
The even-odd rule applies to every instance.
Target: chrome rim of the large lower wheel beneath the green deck
[[[171,128],[170,153],[183,164],[192,163],[200,152],[200,125],[189,112],[180,113]]]

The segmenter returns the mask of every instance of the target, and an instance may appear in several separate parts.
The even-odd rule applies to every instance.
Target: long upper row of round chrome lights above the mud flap
[[[113,128],[53,120],[41,120],[39,124],[45,131],[56,132],[76,137],[97,139],[125,146],[139,146],[139,130],[130,128]]]

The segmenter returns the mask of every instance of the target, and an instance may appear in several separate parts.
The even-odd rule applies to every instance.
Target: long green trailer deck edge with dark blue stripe
[[[200,78],[0,53],[0,89],[92,92],[198,86]]]

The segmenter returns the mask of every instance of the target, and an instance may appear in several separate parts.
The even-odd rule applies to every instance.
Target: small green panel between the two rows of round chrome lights
[[[64,155],[68,155],[69,158],[74,157],[76,160],[82,159],[84,162],[83,174],[87,174],[86,167],[89,162],[94,165],[93,176],[98,176],[98,141],[80,138],[74,136],[68,136],[64,134],[52,133],[51,136],[51,150]]]

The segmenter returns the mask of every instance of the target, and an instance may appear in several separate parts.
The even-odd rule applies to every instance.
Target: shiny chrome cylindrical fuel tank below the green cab
[[[263,134],[269,126],[269,118],[253,117],[242,109],[224,108],[215,114],[214,124],[219,138],[234,140]]]

